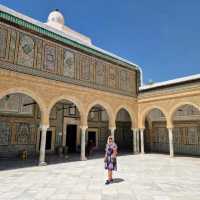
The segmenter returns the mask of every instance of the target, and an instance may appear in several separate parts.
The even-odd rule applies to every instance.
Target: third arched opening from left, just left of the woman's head
[[[88,113],[88,129],[86,133],[86,156],[90,152],[90,143],[93,145],[93,152],[103,152],[107,138],[110,135],[109,116],[106,109],[97,104],[93,106]]]

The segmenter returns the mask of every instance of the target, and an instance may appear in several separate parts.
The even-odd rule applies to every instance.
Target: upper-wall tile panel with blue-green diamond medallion
[[[33,67],[34,46],[35,43],[32,37],[25,34],[20,34],[17,64]]]

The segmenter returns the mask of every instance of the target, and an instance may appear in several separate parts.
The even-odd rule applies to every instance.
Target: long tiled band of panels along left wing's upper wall
[[[136,71],[0,22],[0,67],[136,96]]]

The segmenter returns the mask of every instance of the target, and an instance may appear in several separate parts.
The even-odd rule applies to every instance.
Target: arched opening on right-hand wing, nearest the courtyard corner
[[[144,151],[169,153],[166,117],[158,108],[151,109],[145,117]]]

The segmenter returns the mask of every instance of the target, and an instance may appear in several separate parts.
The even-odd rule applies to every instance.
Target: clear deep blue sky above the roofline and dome
[[[0,0],[45,22],[58,8],[93,44],[138,64],[144,81],[200,72],[199,0]]]

